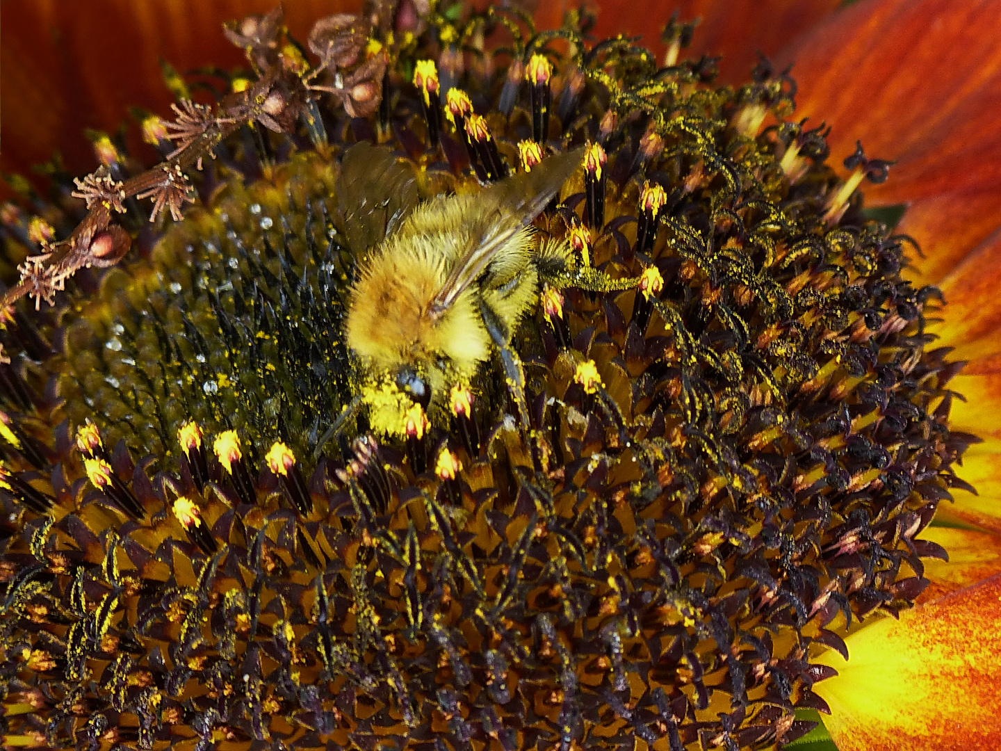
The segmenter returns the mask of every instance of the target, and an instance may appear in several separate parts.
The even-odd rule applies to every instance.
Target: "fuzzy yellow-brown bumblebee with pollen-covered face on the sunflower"
[[[494,349],[528,424],[512,335],[539,298],[541,273],[565,274],[570,263],[565,241],[537,247],[532,222],[582,160],[581,150],[550,156],[476,193],[421,203],[412,171],[390,151],[347,151],[338,200],[358,268],[344,335],[366,374],[373,429],[402,434],[414,404],[440,409]]]

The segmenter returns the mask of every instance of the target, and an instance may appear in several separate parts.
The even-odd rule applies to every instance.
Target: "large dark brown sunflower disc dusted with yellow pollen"
[[[788,75],[715,85],[677,19],[661,67],[587,14],[411,10],[306,47],[280,8],[234,21],[253,73],[143,120],[162,163],[109,141],[75,217],[7,211],[6,743],[764,749],[827,709],[818,655],[927,585],[971,439],[937,292],[864,210],[889,164],[828,164]],[[373,377],[368,254],[567,154],[458,295],[508,335]]]

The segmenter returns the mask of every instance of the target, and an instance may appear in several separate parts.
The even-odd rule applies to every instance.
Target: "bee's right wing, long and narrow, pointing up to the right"
[[[476,222],[469,247],[452,266],[431,310],[441,312],[486,268],[493,254],[546,208],[583,160],[583,149],[551,156],[534,167],[483,189],[477,196]]]

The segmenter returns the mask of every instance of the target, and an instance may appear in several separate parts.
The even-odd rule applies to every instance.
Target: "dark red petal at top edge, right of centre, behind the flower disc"
[[[602,2],[599,3],[601,12],[595,35],[641,35],[643,43],[660,56],[664,51],[661,32],[677,8],[679,20],[683,22],[702,18],[696,27],[692,46],[683,55],[723,55],[720,61],[721,78],[726,82],[741,83],[749,80],[751,68],[758,62],[757,50],[774,57],[797,35],[815,26],[840,4],[841,0]],[[560,7],[559,3],[551,5]],[[562,9],[559,12],[562,14]],[[556,11],[553,13],[556,15]],[[559,16],[553,25],[560,25]]]

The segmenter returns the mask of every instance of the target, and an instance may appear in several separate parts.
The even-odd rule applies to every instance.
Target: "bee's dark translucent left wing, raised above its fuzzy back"
[[[413,170],[390,149],[366,141],[344,153],[336,191],[347,244],[356,256],[381,242],[420,200]]]

